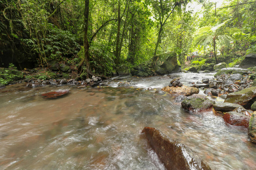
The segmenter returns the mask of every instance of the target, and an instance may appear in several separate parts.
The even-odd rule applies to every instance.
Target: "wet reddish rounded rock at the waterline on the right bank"
[[[223,119],[226,123],[233,125],[233,126],[245,126],[248,128],[250,118],[237,113],[237,112],[228,112],[224,114]]]

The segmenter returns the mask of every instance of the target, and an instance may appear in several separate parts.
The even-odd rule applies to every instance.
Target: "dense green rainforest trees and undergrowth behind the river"
[[[193,55],[232,66],[256,52],[255,11],[253,0],[0,0],[0,67],[111,76],[166,52],[183,69]]]

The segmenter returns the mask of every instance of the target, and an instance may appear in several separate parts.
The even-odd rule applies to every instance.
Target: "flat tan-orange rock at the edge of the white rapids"
[[[181,87],[163,87],[162,91],[166,91],[172,95],[184,95],[184,96],[190,96],[192,94],[198,94],[199,93],[199,89],[196,87],[188,87],[188,86],[181,86]]]

